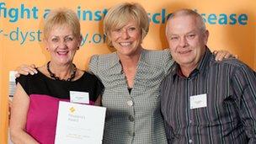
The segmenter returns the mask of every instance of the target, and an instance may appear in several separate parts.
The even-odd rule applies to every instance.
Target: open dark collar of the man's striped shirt
[[[205,55],[200,60],[199,65],[195,68],[195,70],[189,74],[189,77],[195,77],[198,73],[205,72],[208,69],[207,67],[209,67],[211,58],[212,58],[212,53],[210,49],[206,47]],[[177,62],[174,62],[173,67],[171,69],[171,74],[173,75],[173,80],[175,79],[175,77],[178,77],[178,76],[184,77],[184,74],[181,72],[181,69]],[[184,78],[189,78],[189,77],[184,77]]]

